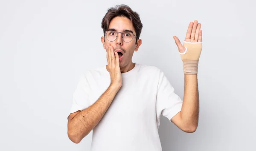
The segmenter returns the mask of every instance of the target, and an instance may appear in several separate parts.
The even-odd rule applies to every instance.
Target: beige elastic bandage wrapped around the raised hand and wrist
[[[183,61],[184,74],[196,75],[198,73],[198,62],[202,51],[202,43],[183,42],[185,52],[180,53]]]

